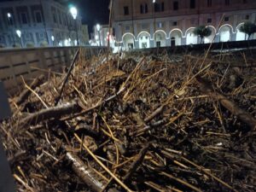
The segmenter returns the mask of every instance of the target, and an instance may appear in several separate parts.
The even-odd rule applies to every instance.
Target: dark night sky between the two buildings
[[[0,0],[9,2],[12,0]],[[26,1],[26,0],[25,0]],[[44,0],[42,0],[44,1]],[[89,25],[89,32],[96,23],[108,24],[108,3],[109,0],[59,0],[60,2],[77,6],[83,23]]]

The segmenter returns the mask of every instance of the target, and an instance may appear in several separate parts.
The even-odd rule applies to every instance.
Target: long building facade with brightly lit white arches
[[[202,25],[212,30],[204,43],[245,40],[239,28],[255,19],[255,0],[119,0],[113,4],[115,40],[123,49],[198,44],[193,31]]]

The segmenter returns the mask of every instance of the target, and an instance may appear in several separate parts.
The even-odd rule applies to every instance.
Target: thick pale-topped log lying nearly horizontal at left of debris
[[[20,124],[26,125],[27,123],[35,125],[41,121],[51,118],[60,118],[63,115],[78,113],[81,110],[78,102],[68,103],[53,108],[45,108],[37,113],[29,114],[26,118],[21,119]]]

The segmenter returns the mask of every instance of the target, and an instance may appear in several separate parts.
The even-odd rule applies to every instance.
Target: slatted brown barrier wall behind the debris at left
[[[23,80],[27,83],[42,73],[40,69],[60,72],[68,67],[79,47],[47,47],[33,49],[0,49],[0,81],[9,95],[20,91]],[[81,47],[85,57],[106,51],[104,47]],[[22,86],[23,87],[23,86]]]

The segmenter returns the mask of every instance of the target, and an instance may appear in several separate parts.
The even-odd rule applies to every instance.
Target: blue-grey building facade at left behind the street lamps
[[[20,31],[20,37],[18,36]],[[82,42],[81,17],[54,0],[17,0],[0,3],[0,46],[68,46]]]

